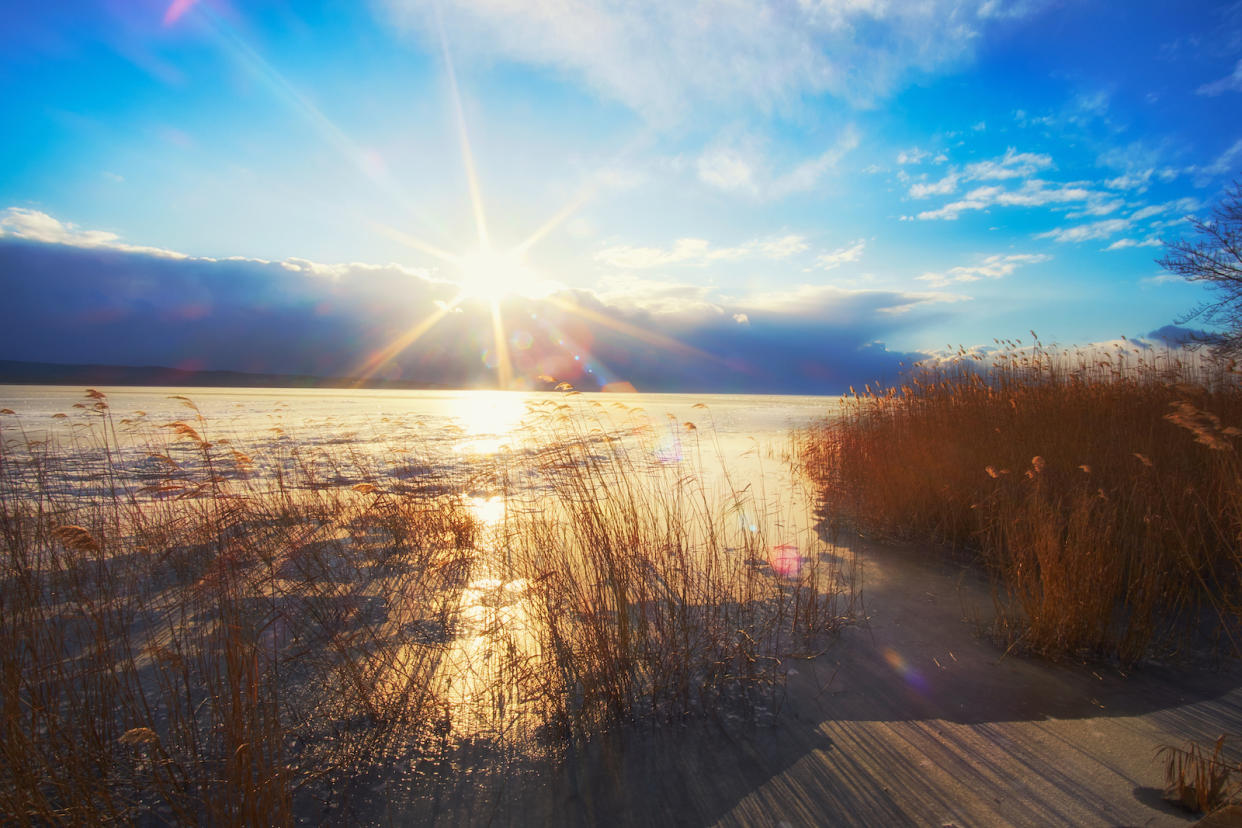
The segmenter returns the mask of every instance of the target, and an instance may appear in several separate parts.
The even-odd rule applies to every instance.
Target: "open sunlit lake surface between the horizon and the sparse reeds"
[[[792,430],[831,413],[838,397],[768,395],[564,394],[318,389],[103,387],[107,415],[86,390],[0,386],[0,438],[19,456],[46,447],[75,458],[55,488],[118,463],[134,488],[171,477],[201,479],[202,452],[179,439],[190,426],[224,458],[247,457],[246,474],[298,464],[324,485],[379,479],[397,487],[442,480],[465,489],[479,516],[523,488],[540,451],[566,439],[626,441],[636,468],[698,475],[709,490],[749,492],[759,513],[806,513],[792,473]],[[109,448],[111,447],[111,448]],[[106,456],[106,449],[108,453]],[[153,458],[155,458],[153,461]],[[348,461],[348,462],[343,462]],[[159,462],[156,462],[159,461]],[[232,467],[219,464],[214,473]],[[503,480],[503,483],[502,483]],[[463,483],[465,482],[465,483]],[[170,489],[175,492],[175,489]],[[768,523],[759,515],[756,524]],[[784,523],[785,519],[781,519]],[[784,534],[776,530],[776,535]]]

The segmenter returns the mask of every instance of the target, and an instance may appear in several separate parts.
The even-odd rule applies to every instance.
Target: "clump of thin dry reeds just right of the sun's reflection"
[[[705,410],[702,430],[671,423],[689,462],[669,462],[641,413],[568,408],[542,412],[543,485],[513,520],[515,572],[539,585],[528,612],[540,718],[580,736],[637,718],[770,710],[782,659],[850,611],[810,509],[766,499],[727,467],[713,475],[703,457],[723,452]]]

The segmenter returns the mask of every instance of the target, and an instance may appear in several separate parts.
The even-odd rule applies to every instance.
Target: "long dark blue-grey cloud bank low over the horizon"
[[[841,290],[733,300],[651,300],[585,290],[501,305],[399,264],[202,258],[67,227],[45,214],[0,218],[0,271],[21,273],[0,308],[6,359],[363,376],[509,387],[830,392],[894,379],[899,354],[878,338],[897,314],[936,313],[935,293]],[[664,286],[667,290],[677,288]],[[686,289],[686,288],[683,288]],[[376,361],[436,319],[415,344]]]

